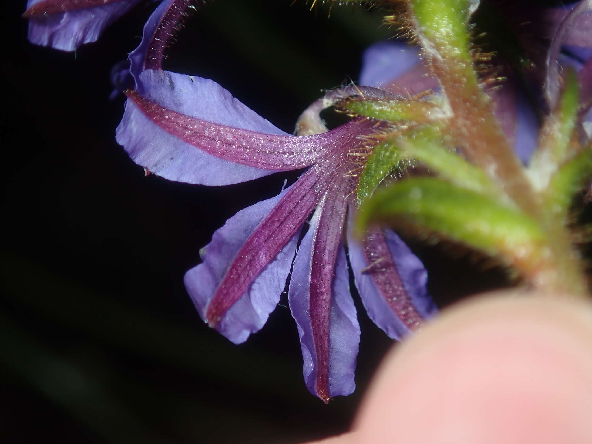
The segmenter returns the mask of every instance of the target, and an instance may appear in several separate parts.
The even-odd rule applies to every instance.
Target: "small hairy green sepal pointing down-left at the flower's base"
[[[372,150],[358,182],[358,206],[372,195],[377,186],[392,170],[409,166],[399,155],[400,149],[392,141],[379,143]]]

